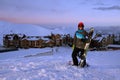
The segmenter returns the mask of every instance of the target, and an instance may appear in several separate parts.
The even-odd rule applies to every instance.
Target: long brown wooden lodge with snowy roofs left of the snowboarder
[[[64,43],[63,38],[60,34],[51,34],[50,36],[26,36],[24,34],[6,34],[3,37],[3,44],[4,47],[7,48],[44,48],[62,46]]]

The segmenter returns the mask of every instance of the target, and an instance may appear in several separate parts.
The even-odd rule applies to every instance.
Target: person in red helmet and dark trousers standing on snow
[[[78,24],[78,30],[75,32],[74,35],[74,40],[73,40],[73,52],[72,52],[72,60],[73,60],[73,65],[74,66],[78,66],[78,57],[81,60],[84,60],[83,63],[84,65],[81,67],[84,67],[86,65],[86,58],[83,55],[84,54],[84,47],[86,44],[86,38],[88,37],[88,33],[86,32],[86,30],[84,30],[84,23],[83,22],[79,22]]]

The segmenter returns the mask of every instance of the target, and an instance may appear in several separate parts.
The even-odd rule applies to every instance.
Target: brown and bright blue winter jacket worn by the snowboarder
[[[73,45],[79,49],[84,49],[86,36],[88,36],[88,33],[85,30],[77,30],[74,35]]]

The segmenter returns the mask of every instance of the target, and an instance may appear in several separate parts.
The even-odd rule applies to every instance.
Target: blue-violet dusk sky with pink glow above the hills
[[[119,26],[120,0],[0,0],[0,20]]]

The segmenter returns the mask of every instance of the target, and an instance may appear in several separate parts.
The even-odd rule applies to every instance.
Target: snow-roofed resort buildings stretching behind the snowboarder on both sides
[[[11,48],[13,50],[18,50],[17,48],[45,48],[45,47],[55,47],[55,46],[70,46],[73,45],[73,36],[70,34],[54,34],[50,33],[45,36],[27,36],[26,34],[4,34],[3,35],[3,47]],[[100,33],[95,32],[92,38],[90,49],[91,50],[107,50],[120,49],[120,33]],[[5,49],[3,50],[3,52]],[[2,52],[2,49],[1,51]]]

